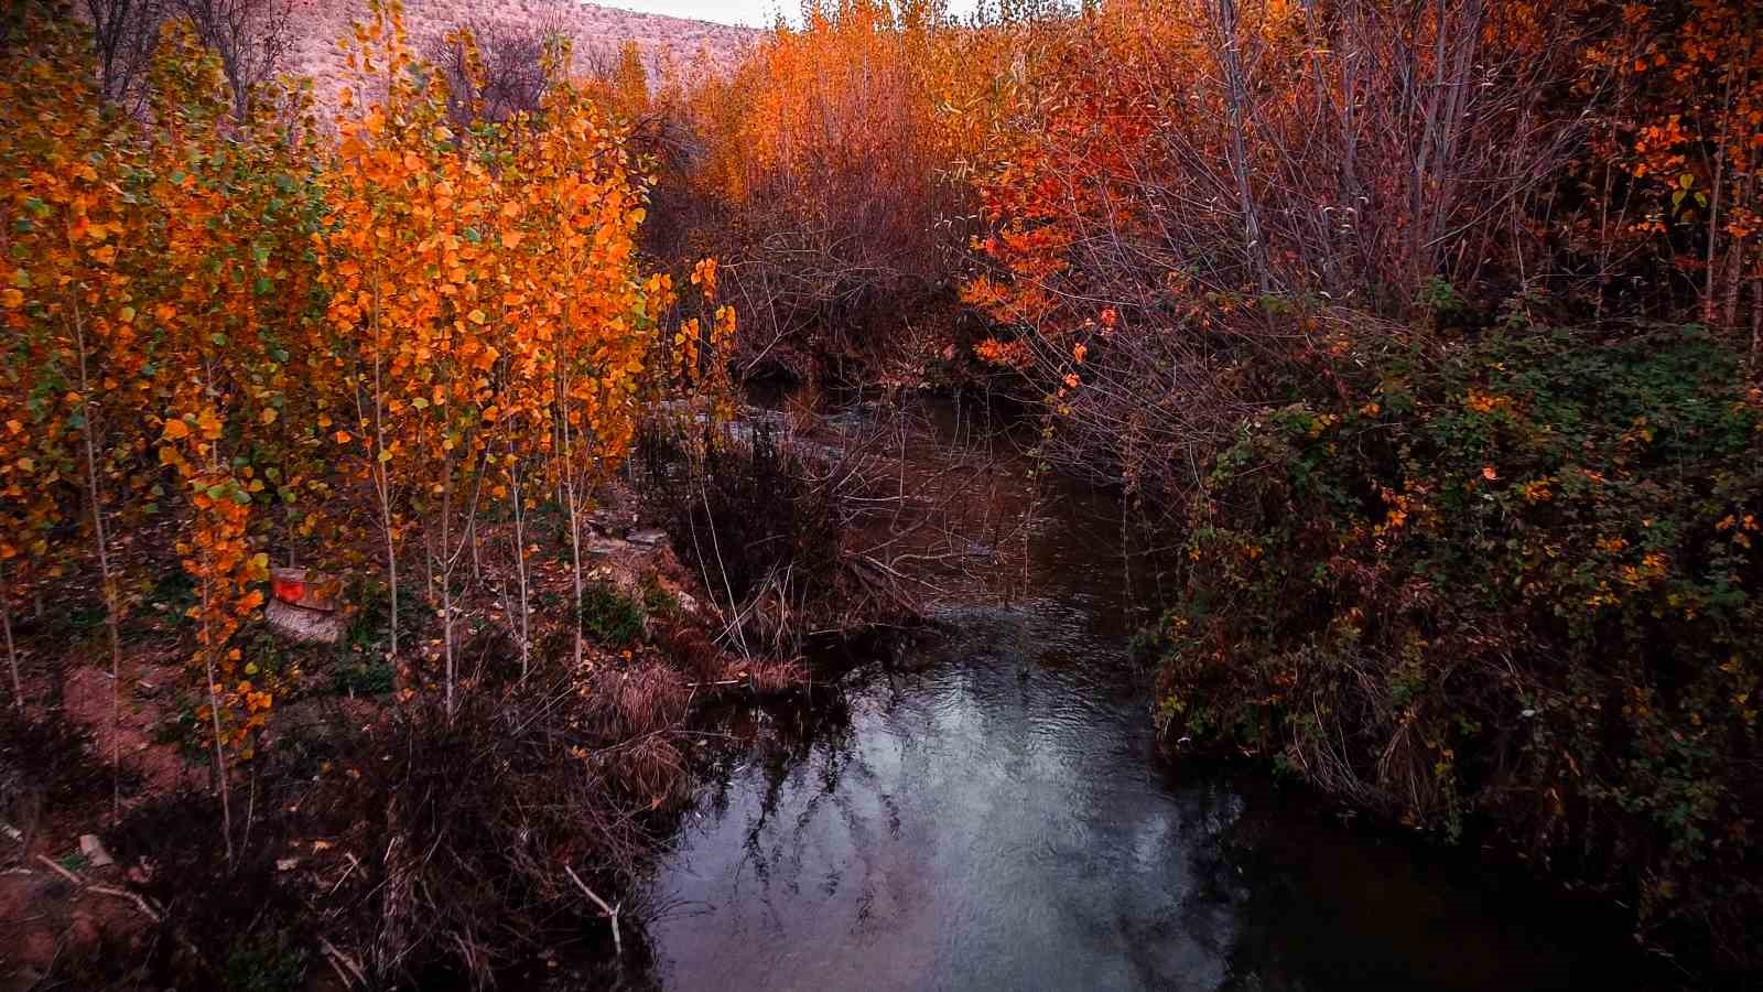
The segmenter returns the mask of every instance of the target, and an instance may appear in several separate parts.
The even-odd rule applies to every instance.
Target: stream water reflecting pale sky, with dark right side
[[[1158,757],[1105,503],[1042,508],[1033,597],[730,727],[651,883],[665,988],[1638,983],[1596,907]]]

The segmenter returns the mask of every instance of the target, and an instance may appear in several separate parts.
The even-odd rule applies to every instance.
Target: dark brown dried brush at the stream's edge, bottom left
[[[427,697],[374,722],[333,708],[250,766],[231,863],[203,793],[159,796],[106,833],[164,907],[160,939],[111,964],[152,987],[273,990],[330,957],[374,988],[481,988],[529,987],[534,962],[580,955],[605,967],[608,981],[589,980],[603,987],[622,962],[569,872],[626,925],[642,918],[635,881],[689,800],[689,695],[640,658],[594,681],[534,667],[453,713]],[[626,928],[624,950],[640,958],[642,939]]]

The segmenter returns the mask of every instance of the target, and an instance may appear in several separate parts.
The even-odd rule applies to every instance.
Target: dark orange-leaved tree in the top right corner
[[[1583,155],[1576,240],[1594,256],[1597,307],[1670,312],[1763,348],[1758,129],[1763,21],[1754,4],[1592,4],[1610,28],[1576,79],[1603,113]]]

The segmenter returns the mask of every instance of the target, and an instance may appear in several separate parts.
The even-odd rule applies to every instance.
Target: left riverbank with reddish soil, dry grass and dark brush
[[[562,958],[584,981],[624,974],[631,881],[689,800],[696,715],[809,676],[718,646],[726,618],[629,489],[601,492],[569,623],[554,522],[527,519],[518,593],[497,552],[511,524],[474,535],[457,701],[439,621],[405,612],[390,655],[370,586],[337,593],[337,644],[259,632],[247,674],[275,680],[275,706],[224,791],[182,688],[175,586],[125,628],[122,720],[79,611],[16,623],[32,703],[0,720],[5,987],[472,987]]]

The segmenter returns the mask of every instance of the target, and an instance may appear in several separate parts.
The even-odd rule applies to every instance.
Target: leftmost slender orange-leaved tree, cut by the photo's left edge
[[[152,205],[134,185],[143,175],[127,118],[106,111],[88,72],[78,26],[26,12],[23,51],[9,53],[0,92],[0,171],[7,177],[5,291],[12,358],[33,454],[14,459],[35,487],[72,484],[71,515],[86,526],[99,572],[111,667],[113,718],[122,713],[122,616],[127,607],[115,545],[115,514],[141,485],[136,459],[148,394],[152,316],[139,297],[130,254],[146,240]],[[19,477],[12,482],[21,485]],[[37,526],[49,505],[35,501]],[[53,547],[71,554],[71,547]],[[120,761],[120,752],[111,754]]]

